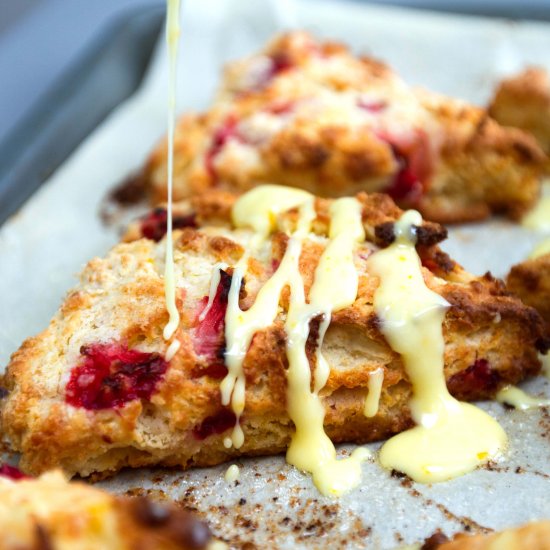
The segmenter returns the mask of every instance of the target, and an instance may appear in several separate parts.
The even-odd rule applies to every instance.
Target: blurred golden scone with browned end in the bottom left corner
[[[0,477],[0,550],[190,550],[209,531],[191,513],[145,497],[116,497],[59,471]]]

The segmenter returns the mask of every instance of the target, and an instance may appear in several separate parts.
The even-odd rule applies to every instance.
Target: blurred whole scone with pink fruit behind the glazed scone
[[[545,158],[485,110],[293,32],[230,64],[211,109],[181,119],[174,196],[275,181],[326,197],[386,192],[444,223],[518,218],[537,200]],[[165,199],[165,142],[142,178],[155,203]]]

